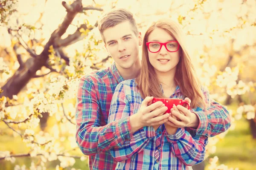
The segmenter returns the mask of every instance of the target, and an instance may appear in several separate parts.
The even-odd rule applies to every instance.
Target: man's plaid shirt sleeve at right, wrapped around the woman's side
[[[207,108],[202,111],[194,111],[199,118],[196,134],[213,137],[225,132],[231,126],[231,118],[227,108],[210,99],[206,89],[203,90],[203,93]]]

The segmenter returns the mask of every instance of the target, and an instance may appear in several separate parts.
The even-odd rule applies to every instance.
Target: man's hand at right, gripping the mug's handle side
[[[185,101],[191,102],[189,98],[186,97]],[[181,105],[173,106],[171,109],[171,114],[176,116],[174,119],[172,116],[169,117],[169,121],[166,124],[173,127],[194,127],[197,128],[199,125],[199,119],[195,113],[191,113],[187,108]]]

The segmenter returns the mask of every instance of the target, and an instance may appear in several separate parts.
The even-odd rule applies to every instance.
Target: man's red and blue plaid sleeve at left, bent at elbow
[[[82,153],[88,156],[122,144],[131,136],[129,117],[100,125],[98,83],[92,77],[82,77],[77,92],[76,142]]]

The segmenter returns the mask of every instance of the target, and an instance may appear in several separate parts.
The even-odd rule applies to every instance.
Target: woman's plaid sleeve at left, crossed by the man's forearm
[[[131,115],[130,112],[131,108],[125,95],[124,83],[120,83],[116,87],[116,91],[112,98],[108,122],[110,123],[114,120],[125,119]],[[143,127],[133,133],[131,139],[127,139],[124,143],[112,147],[110,153],[116,161],[129,159],[134,154],[140,153],[154,136],[156,136],[154,127]]]

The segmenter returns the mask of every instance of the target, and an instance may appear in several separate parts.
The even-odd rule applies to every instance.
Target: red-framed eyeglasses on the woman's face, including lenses
[[[180,44],[177,41],[169,41],[169,42],[146,42],[146,45],[148,46],[148,50],[151,53],[157,53],[161,50],[162,46],[164,45],[166,50],[169,52],[175,52],[179,50]]]

